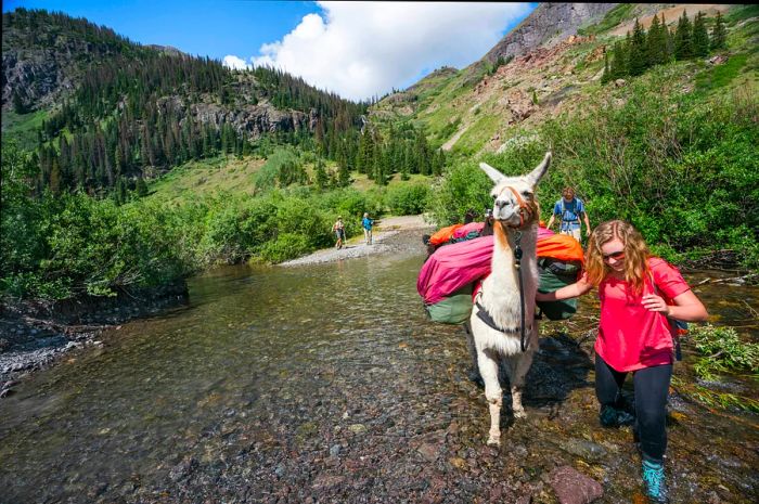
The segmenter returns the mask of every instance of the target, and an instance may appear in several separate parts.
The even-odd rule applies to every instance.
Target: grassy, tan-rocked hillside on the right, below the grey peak
[[[629,17],[632,13],[632,4],[621,4],[599,24],[580,29],[584,37],[538,49],[527,61],[516,57],[499,68],[478,62],[458,73],[433,74],[383,100],[372,107],[372,116],[384,121],[394,116],[411,120],[426,128],[434,145],[454,154],[494,152],[522,135],[523,130],[558,114],[573,113],[583,102],[597,100],[599,92],[608,92],[608,86],[600,82],[604,49],[610,50],[620,40],[609,31],[634,21]],[[726,63],[713,67],[702,60],[674,63],[679,65],[676,75],[680,83],[690,87],[695,77],[699,90],[708,88],[712,93],[746,87],[756,90],[758,15],[752,5],[732,8],[725,14],[728,49],[711,52],[726,56]],[[711,29],[713,16],[706,21]],[[474,70],[479,78],[473,82]]]

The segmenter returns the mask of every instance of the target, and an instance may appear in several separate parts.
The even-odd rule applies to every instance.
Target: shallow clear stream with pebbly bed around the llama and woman
[[[415,292],[419,233],[385,245],[215,270],[188,306],[24,380],[0,401],[0,500],[645,502],[631,431],[597,423],[592,299],[543,324],[528,418],[506,411],[496,450],[462,329],[428,322]],[[687,358],[676,376],[691,379]],[[673,502],[755,502],[756,415],[673,389],[669,424]]]

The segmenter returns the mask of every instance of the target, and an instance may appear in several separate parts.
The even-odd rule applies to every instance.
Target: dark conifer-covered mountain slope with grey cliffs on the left
[[[3,140],[35,148],[39,188],[101,193],[190,159],[359,125],[366,104],[272,68],[237,72],[65,14],[3,13]],[[319,131],[317,131],[319,130]]]

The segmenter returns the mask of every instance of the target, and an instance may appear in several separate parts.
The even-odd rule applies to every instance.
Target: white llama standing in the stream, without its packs
[[[503,392],[498,379],[500,359],[506,363],[514,417],[525,416],[522,388],[539,345],[535,320],[539,209],[535,189],[550,164],[549,152],[537,168],[522,177],[505,177],[485,163],[479,165],[496,184],[491,192],[496,222],[492,271],[475,298],[469,324],[490,408],[487,442],[490,445],[501,444]]]

